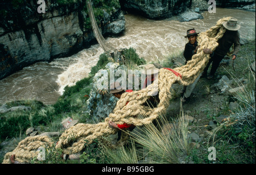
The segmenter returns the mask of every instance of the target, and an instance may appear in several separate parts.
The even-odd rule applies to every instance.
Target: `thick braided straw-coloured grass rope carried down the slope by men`
[[[158,81],[153,82],[147,88],[140,91],[133,91],[130,93],[123,93],[121,99],[118,100],[113,113],[110,113],[105,118],[104,122],[97,124],[85,124],[79,123],[75,126],[64,131],[60,136],[59,141],[56,144],[56,148],[61,148],[63,153],[72,154],[80,152],[84,149],[86,143],[92,143],[94,139],[108,136],[110,134],[117,133],[116,129],[112,129],[108,126],[110,120],[116,123],[128,123],[135,126],[142,126],[151,123],[159,115],[166,112],[171,99],[171,86],[174,83],[188,86],[193,83],[195,79],[203,72],[205,66],[209,62],[209,54],[203,52],[204,48],[216,49],[218,46],[218,39],[220,39],[224,33],[225,28],[222,26],[223,22],[230,19],[222,18],[218,20],[217,24],[211,27],[208,31],[202,32],[197,37],[197,42],[200,48],[197,50],[191,61],[188,61],[187,65],[176,67],[174,70],[181,74],[181,78],[176,76],[172,71],[167,69],[160,69],[158,74]],[[156,84],[158,83],[158,84]],[[160,102],[157,108],[151,109],[142,104],[148,99],[148,94],[152,91],[152,87],[158,86]],[[129,103],[127,104],[127,102]],[[127,104],[127,105],[126,105]],[[136,116],[146,116],[144,118],[137,118]],[[16,155],[16,160],[20,162],[29,162],[38,153],[36,150],[38,147],[44,144],[53,144],[51,139],[47,136],[35,136],[28,137],[22,140],[18,147],[13,152],[6,153],[3,163],[10,163],[9,158],[11,155]],[[123,144],[127,139],[127,134],[122,134],[122,139],[118,144]]]

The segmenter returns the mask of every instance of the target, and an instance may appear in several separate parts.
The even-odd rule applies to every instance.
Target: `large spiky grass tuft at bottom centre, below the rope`
[[[151,161],[181,163],[182,158],[189,155],[188,125],[184,121],[184,116],[175,123],[170,124],[166,118],[159,117],[159,129],[151,123],[144,126],[142,135],[134,138],[135,142],[144,147],[147,155],[150,155]],[[163,133],[166,126],[167,132]]]

